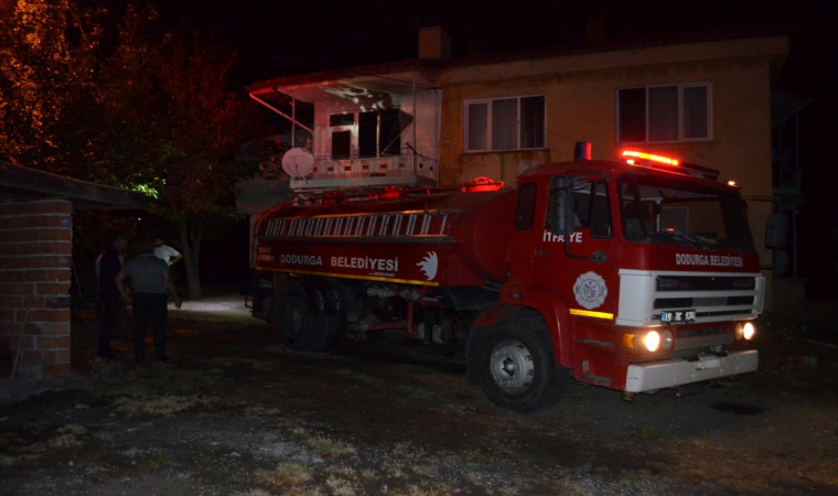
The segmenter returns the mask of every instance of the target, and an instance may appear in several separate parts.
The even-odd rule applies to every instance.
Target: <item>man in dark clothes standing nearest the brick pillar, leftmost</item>
[[[110,347],[110,337],[119,319],[119,291],[116,277],[122,268],[125,254],[128,251],[128,238],[117,236],[114,244],[105,249],[97,259],[99,276],[99,308],[101,309],[101,328],[99,330],[99,353],[105,358],[116,358],[116,352]]]

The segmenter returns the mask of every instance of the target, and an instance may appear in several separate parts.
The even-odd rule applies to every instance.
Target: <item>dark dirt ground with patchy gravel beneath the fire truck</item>
[[[294,354],[239,305],[170,312],[171,362],[140,367],[127,342],[95,358],[98,323],[76,319],[73,377],[0,382],[0,493],[838,495],[838,349],[791,322],[761,319],[760,370],[702,393],[571,385],[517,414],[459,346]]]

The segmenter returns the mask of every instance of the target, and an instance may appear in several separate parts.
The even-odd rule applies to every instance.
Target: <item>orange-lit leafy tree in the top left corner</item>
[[[19,0],[0,24],[0,157],[58,173],[89,166],[89,115],[77,110],[96,88],[103,14]]]

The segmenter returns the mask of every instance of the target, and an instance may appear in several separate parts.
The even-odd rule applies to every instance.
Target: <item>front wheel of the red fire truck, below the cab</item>
[[[556,405],[570,377],[556,363],[540,320],[507,320],[492,325],[480,339],[476,359],[477,384],[488,400],[522,413]]]

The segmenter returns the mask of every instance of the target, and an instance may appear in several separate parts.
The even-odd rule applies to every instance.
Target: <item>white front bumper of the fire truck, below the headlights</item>
[[[759,353],[755,349],[730,352],[727,356],[703,355],[697,360],[684,358],[630,365],[625,376],[627,392],[642,392],[672,388],[685,384],[718,379],[756,370]]]

